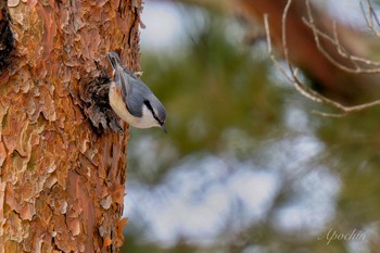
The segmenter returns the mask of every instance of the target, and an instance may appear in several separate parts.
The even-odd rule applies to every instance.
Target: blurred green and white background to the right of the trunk
[[[259,22],[202,2],[145,0],[142,79],[168,135],[131,129],[122,252],[379,252],[380,109],[313,114],[333,110],[278,71]],[[359,1],[312,2],[370,34]]]

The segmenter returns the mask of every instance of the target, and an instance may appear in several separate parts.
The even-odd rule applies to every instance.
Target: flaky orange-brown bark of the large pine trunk
[[[141,1],[0,5],[0,253],[117,252],[129,132],[86,87],[139,68]]]

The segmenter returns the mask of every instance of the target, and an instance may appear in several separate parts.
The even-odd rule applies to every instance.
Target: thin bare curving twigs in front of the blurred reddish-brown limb
[[[312,28],[314,35],[315,35],[315,40],[316,43],[318,46],[318,49],[321,50],[321,52],[327,56],[329,56],[329,54],[324,50],[324,48],[320,46],[319,42],[319,37],[322,37],[327,40],[329,40],[330,42],[332,42],[333,45],[335,45],[337,50],[339,50],[341,55],[346,55],[347,59],[350,59],[351,61],[353,61],[353,63],[356,64],[357,69],[351,69],[347,68],[345,66],[343,66],[342,64],[340,64],[339,62],[335,62],[335,60],[333,60],[331,58],[331,61],[335,62],[338,65],[337,66],[341,66],[341,68],[347,68],[351,69],[350,72],[357,73],[358,69],[362,69],[358,65],[357,62],[362,62],[364,61],[363,59],[359,58],[351,58],[351,55],[346,52],[346,50],[341,46],[341,43],[339,42],[338,39],[338,33],[334,26],[334,37],[330,37],[326,34],[324,34],[322,31],[318,30],[314,24],[314,20],[313,16],[311,15],[311,8],[309,8],[309,3],[308,0],[306,0],[307,4],[308,4],[308,12],[309,12],[309,20],[307,22],[307,24],[309,25],[309,27]],[[287,4],[283,9],[282,12],[282,24],[281,24],[281,39],[282,39],[282,50],[283,50],[283,56],[284,56],[284,61],[287,63],[288,68],[284,68],[279,62],[278,60],[275,58],[273,49],[271,49],[271,41],[270,41],[270,27],[269,27],[269,16],[267,14],[264,15],[264,25],[265,25],[265,31],[267,35],[267,43],[268,43],[268,52],[270,55],[270,59],[273,60],[273,62],[275,63],[276,67],[283,74],[283,76],[293,84],[294,88],[305,98],[317,102],[317,103],[321,103],[321,104],[326,104],[329,106],[332,106],[337,110],[339,110],[339,113],[326,113],[326,112],[319,112],[319,111],[313,111],[313,113],[322,115],[322,116],[328,116],[328,117],[342,117],[345,116],[350,113],[354,113],[354,112],[360,112],[363,110],[376,106],[376,105],[380,105],[380,100],[376,100],[369,103],[364,103],[364,104],[359,104],[359,105],[354,105],[354,106],[345,106],[334,100],[328,99],[325,96],[318,93],[317,91],[313,90],[312,88],[305,86],[299,78],[297,76],[297,68],[294,68],[291,64],[290,64],[290,60],[289,60],[289,48],[287,46],[287,16],[288,16],[288,12],[290,9],[290,5],[292,3],[292,0],[288,0]],[[356,61],[356,62],[355,62]],[[290,74],[289,74],[290,73]]]

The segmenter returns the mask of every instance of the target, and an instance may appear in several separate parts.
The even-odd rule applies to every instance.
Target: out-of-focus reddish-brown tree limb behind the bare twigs
[[[179,1],[232,12],[250,24],[254,21],[253,25],[258,23],[264,26],[263,17],[267,15],[271,41],[277,51],[284,51],[281,42],[282,13],[288,0]],[[369,0],[367,3],[370,3]],[[378,25],[377,18],[373,9],[368,5],[369,14],[364,18],[373,28]],[[362,9],[364,12],[364,7]],[[379,91],[376,84],[380,76],[375,75],[378,74],[379,64],[367,60],[368,55],[373,54],[370,36],[334,22],[306,0],[292,2],[284,25],[289,35],[288,60],[311,78],[313,89],[346,104],[376,97]]]

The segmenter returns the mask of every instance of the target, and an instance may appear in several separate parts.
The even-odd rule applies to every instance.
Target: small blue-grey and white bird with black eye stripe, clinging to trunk
[[[109,91],[112,110],[132,127],[160,127],[167,134],[164,105],[132,71],[124,67],[116,52],[106,55],[113,68]]]

